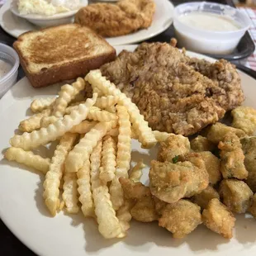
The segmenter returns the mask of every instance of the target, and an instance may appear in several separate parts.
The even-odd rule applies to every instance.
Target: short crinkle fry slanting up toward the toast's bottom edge
[[[59,91],[59,97],[57,97],[55,101],[53,116],[64,116],[65,109],[68,107],[69,102],[71,102],[84,87],[85,82],[83,78],[78,78],[72,85],[64,84]]]

